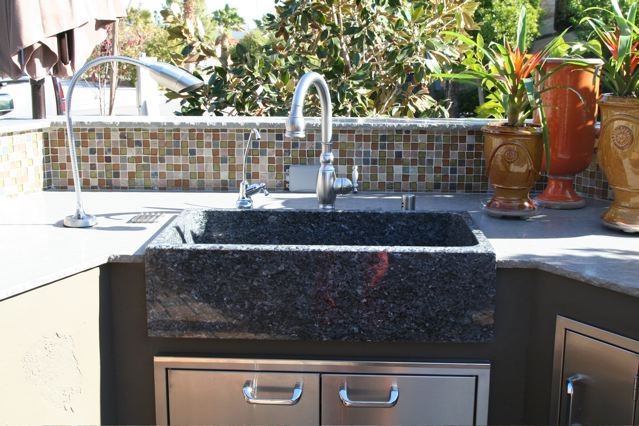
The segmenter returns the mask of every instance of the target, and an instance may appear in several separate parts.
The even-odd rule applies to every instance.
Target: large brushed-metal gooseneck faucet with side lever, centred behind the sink
[[[303,138],[306,136],[304,121],[304,99],[311,86],[315,86],[320,97],[322,106],[322,154],[320,155],[320,168],[317,175],[317,200],[319,208],[333,210],[335,208],[335,198],[337,194],[348,194],[357,188],[357,185],[346,178],[338,178],[335,175],[333,166],[333,147],[331,139],[333,137],[333,106],[331,105],[331,95],[328,91],[326,80],[316,72],[307,72],[302,76],[291,105],[291,113],[286,121],[286,136],[289,138]],[[355,173],[356,173],[355,168]],[[355,175],[354,173],[354,175]]]

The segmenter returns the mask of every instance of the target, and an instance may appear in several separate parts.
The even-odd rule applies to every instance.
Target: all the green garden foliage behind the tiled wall
[[[560,0],[558,25],[578,33],[588,6],[606,0]],[[185,67],[208,84],[179,96],[180,115],[285,115],[295,83],[306,71],[325,76],[336,116],[495,116],[477,108],[476,88],[431,76],[461,69],[467,46],[446,31],[486,44],[513,40],[521,4],[528,9],[528,38],[539,36],[539,0],[277,0],[275,13],[240,40],[245,22],[233,8],[206,10],[204,0],[165,0],[159,13],[129,8],[119,23],[118,48]],[[587,4],[586,4],[587,3]],[[108,39],[94,53],[112,51]],[[92,78],[103,81],[107,69]],[[119,78],[133,84],[135,69]],[[310,108],[317,108],[311,105]]]

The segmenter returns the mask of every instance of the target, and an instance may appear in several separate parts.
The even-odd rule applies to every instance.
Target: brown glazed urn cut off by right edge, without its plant
[[[605,225],[639,232],[639,99],[604,95],[599,165],[615,199],[602,215]]]

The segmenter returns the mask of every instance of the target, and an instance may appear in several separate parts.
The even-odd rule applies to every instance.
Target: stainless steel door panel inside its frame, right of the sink
[[[566,330],[559,424],[633,424],[639,355]]]

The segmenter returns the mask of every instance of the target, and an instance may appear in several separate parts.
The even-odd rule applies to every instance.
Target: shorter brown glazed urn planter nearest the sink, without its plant
[[[530,190],[541,169],[541,128],[489,125],[482,132],[486,175],[495,189],[484,211],[498,217],[535,214],[537,207],[530,198]]]

